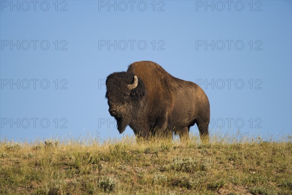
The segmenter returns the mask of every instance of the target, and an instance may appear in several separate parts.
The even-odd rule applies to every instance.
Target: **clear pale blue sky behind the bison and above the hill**
[[[0,6],[0,140],[133,135],[116,129],[105,79],[140,60],[200,84],[211,133],[292,135],[291,0]]]

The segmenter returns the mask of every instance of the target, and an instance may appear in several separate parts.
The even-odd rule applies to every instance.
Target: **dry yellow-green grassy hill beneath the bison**
[[[292,195],[292,142],[0,142],[0,194]]]

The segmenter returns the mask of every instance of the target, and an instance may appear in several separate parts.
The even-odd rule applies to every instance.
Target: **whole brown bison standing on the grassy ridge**
[[[188,139],[195,123],[201,140],[208,139],[209,100],[199,85],[175,78],[152,61],[138,61],[127,72],[115,72],[106,80],[109,112],[123,133],[129,125],[136,137]]]

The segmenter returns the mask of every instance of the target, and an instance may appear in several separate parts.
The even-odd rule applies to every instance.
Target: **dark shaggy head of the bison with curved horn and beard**
[[[146,94],[145,85],[130,72],[118,72],[108,76],[106,86],[110,115],[115,117],[118,130],[123,133],[140,108]]]

